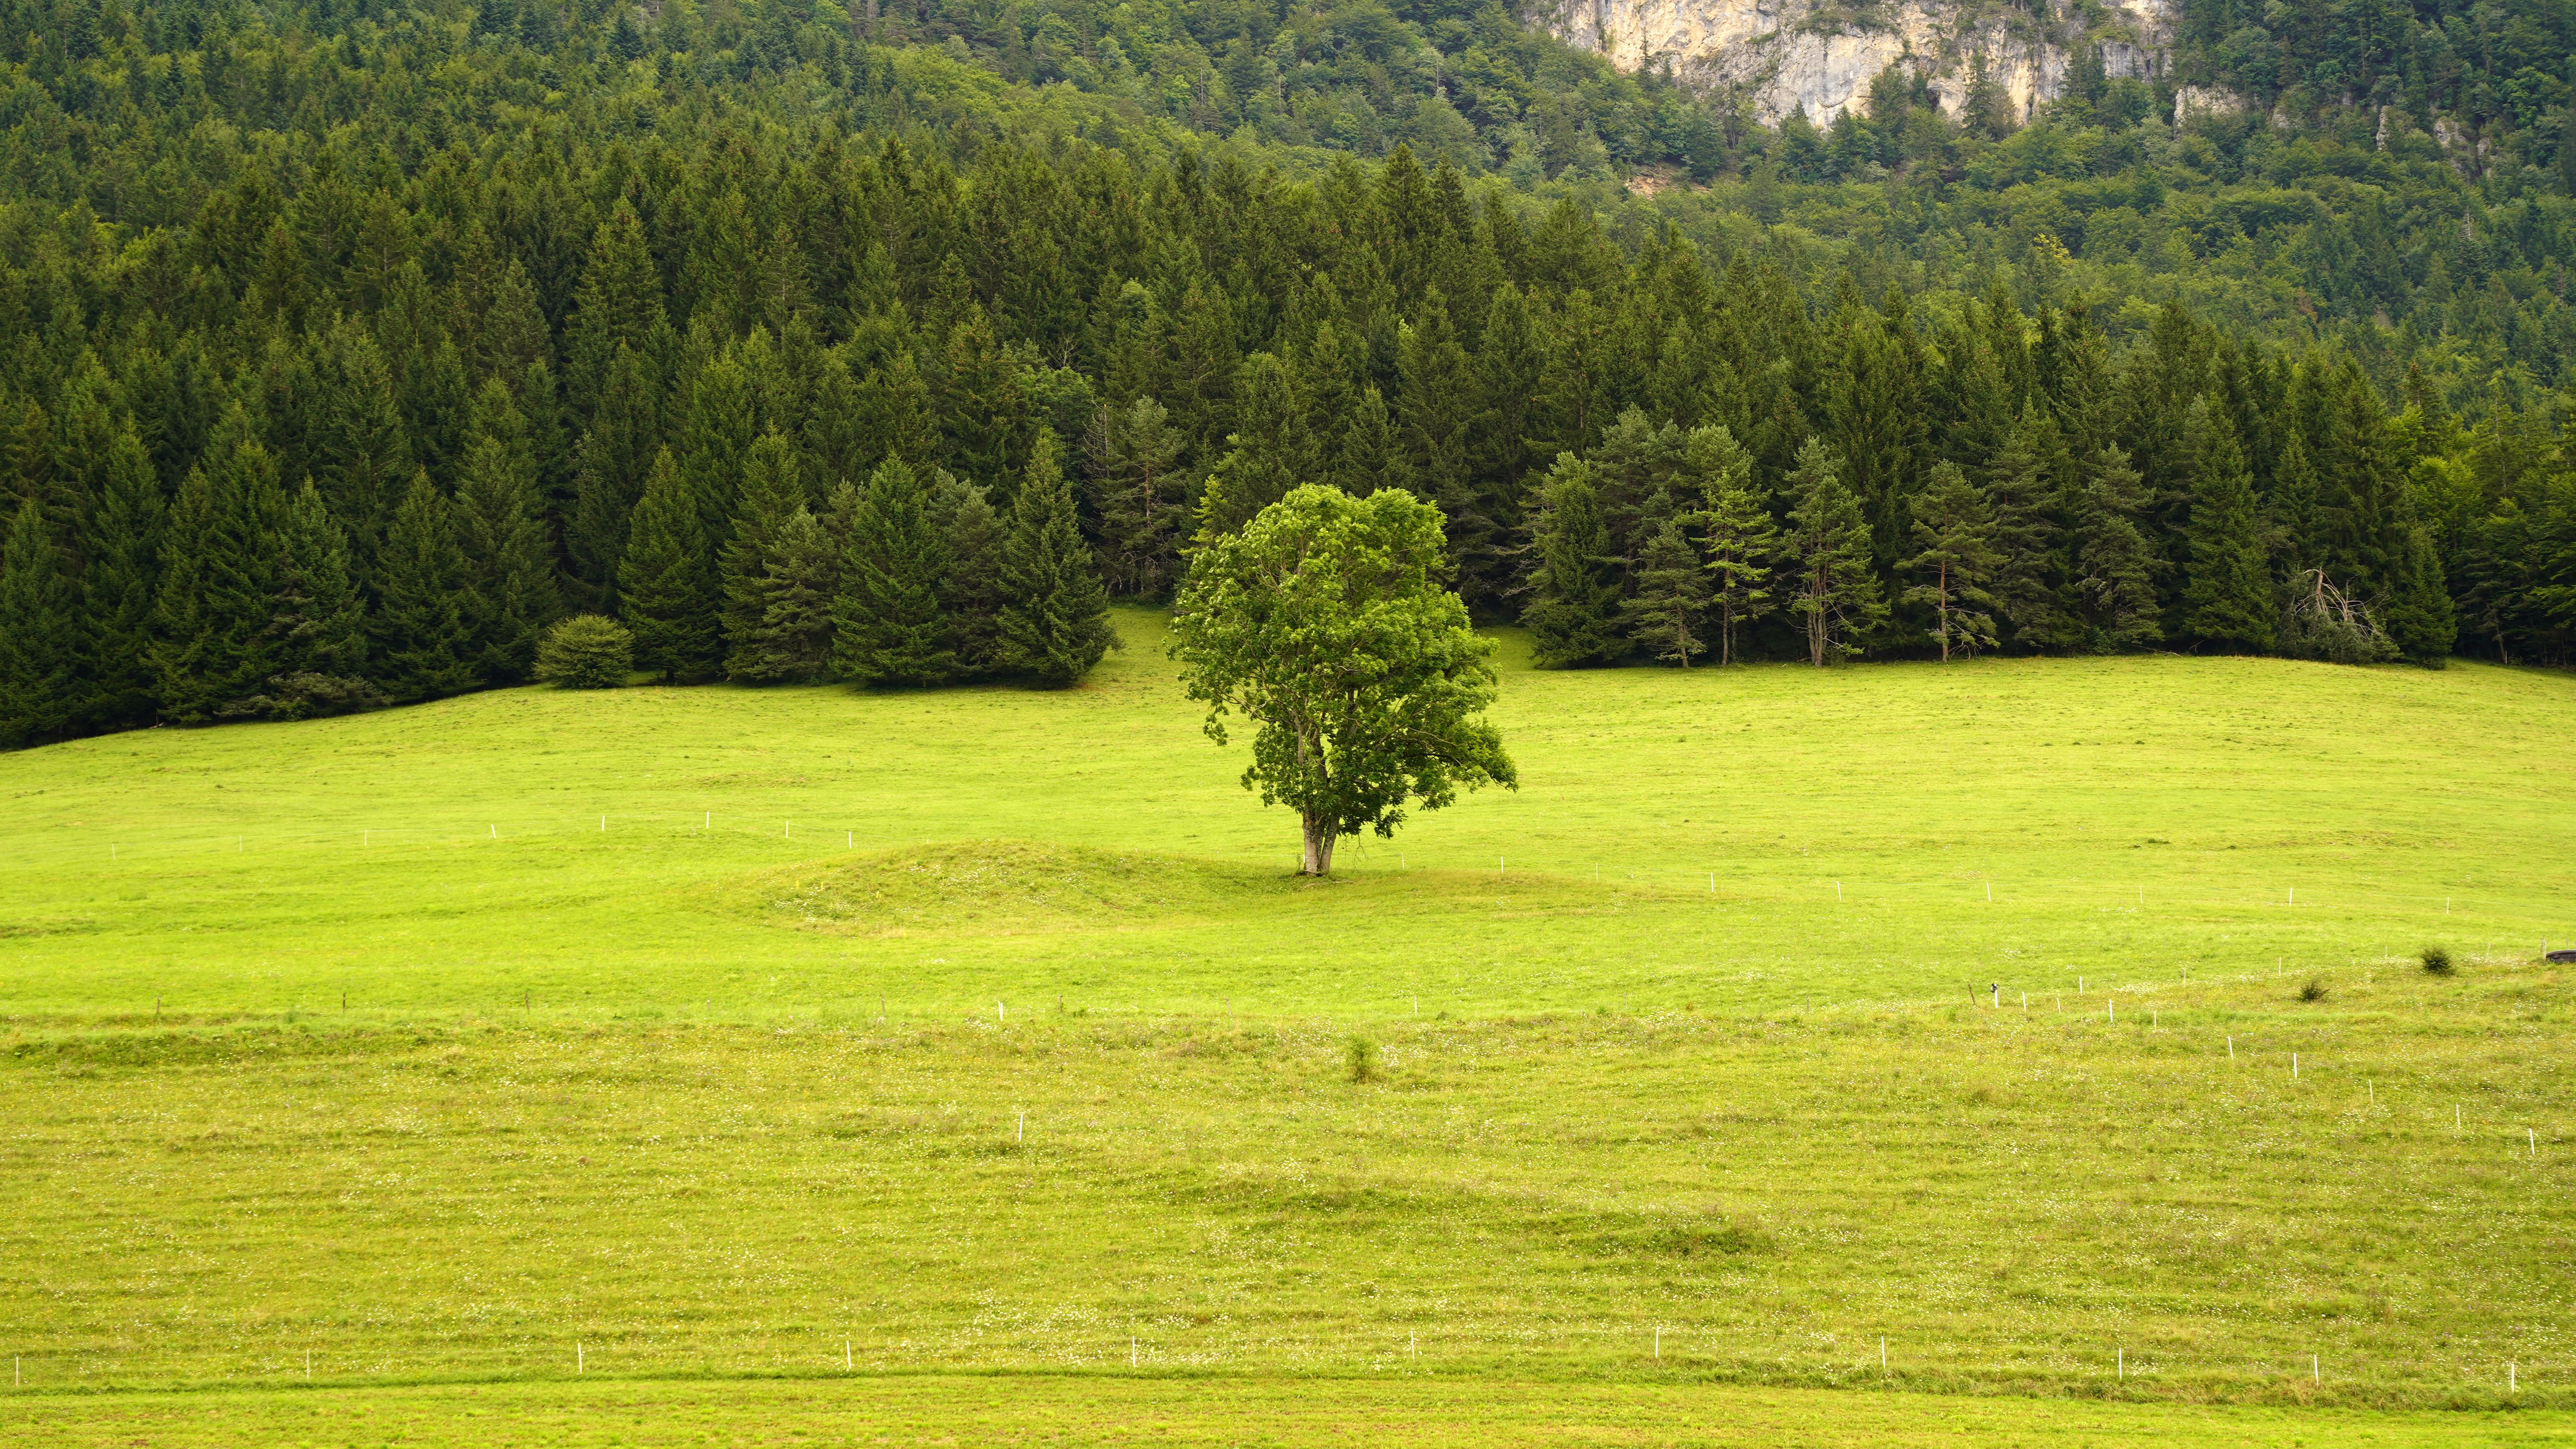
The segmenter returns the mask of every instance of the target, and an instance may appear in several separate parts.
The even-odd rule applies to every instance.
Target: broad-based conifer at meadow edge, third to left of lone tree
[[[832,661],[858,685],[943,685],[956,677],[951,620],[940,610],[948,540],[930,486],[902,458],[868,474],[832,607]]]

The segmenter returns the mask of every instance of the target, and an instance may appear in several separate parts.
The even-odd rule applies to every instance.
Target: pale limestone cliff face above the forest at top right
[[[2040,26],[1958,0],[1530,0],[1530,21],[1558,39],[1610,57],[1620,69],[1672,62],[1685,80],[1752,98],[1762,121],[1806,106],[1829,126],[1844,108],[1868,108],[1870,77],[1888,62],[1929,75],[1945,111],[1968,95],[1971,57],[2030,113],[2066,82],[2063,26]],[[2110,0],[2092,41],[2102,69],[2146,80],[2174,41],[2182,0]]]

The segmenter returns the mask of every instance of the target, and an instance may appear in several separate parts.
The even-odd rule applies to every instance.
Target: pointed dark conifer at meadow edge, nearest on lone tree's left
[[[1108,592],[1074,525],[1074,492],[1056,453],[1054,430],[1041,427],[1010,504],[997,620],[997,664],[1051,690],[1090,674],[1115,638]]]

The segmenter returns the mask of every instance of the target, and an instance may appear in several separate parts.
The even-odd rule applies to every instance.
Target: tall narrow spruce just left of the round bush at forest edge
[[[518,685],[536,667],[536,643],[564,613],[554,587],[536,486],[536,448],[510,389],[484,381],[474,399],[474,440],[456,479],[456,546],[466,564],[461,600],[466,667],[487,685]]]

